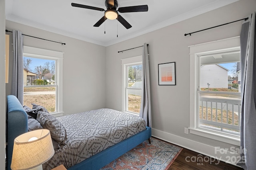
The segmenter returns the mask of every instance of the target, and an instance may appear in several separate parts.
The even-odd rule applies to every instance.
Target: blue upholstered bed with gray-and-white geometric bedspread
[[[104,123],[100,124],[96,123],[101,119],[104,115],[104,112],[110,115],[108,118],[104,118]],[[98,112],[97,117],[95,117],[95,112]],[[114,112],[114,113],[112,113]],[[98,170],[105,166],[106,164],[110,163],[112,160],[115,160],[125,152],[129,151],[130,149],[136,147],[140,143],[145,140],[150,140],[151,137],[151,128],[150,127],[143,127],[138,123],[131,125],[132,128],[126,129],[125,133],[121,132],[119,128],[123,126],[124,121],[122,123],[116,124],[112,122],[111,116],[112,114],[119,114],[119,111],[115,111],[112,109],[97,109],[93,111],[83,112],[83,113],[76,113],[74,115],[66,115],[62,117],[57,117],[56,119],[61,122],[64,129],[66,129],[65,133],[66,137],[62,137],[62,139],[67,139],[60,141],[56,139],[57,143],[59,143],[59,148],[55,150],[55,155],[45,164],[43,164],[44,169],[48,170],[58,166],[60,164],[64,164],[68,170]],[[43,114],[43,113],[41,113]],[[84,123],[82,122],[83,119],[81,117],[86,116]],[[127,117],[129,115],[125,115]],[[39,116],[41,117],[41,116]],[[120,119],[120,115],[118,116]],[[134,117],[134,116],[132,116]],[[92,118],[93,121],[88,123],[88,118]],[[134,117],[134,119],[137,119]],[[76,122],[79,123],[76,123]],[[135,122],[135,120],[131,120]],[[22,107],[20,102],[15,96],[9,95],[7,96],[7,116],[6,116],[6,140],[7,140],[7,147],[6,147],[6,163],[7,163],[7,170],[10,170],[10,164],[12,159],[12,148],[13,148],[13,141],[14,138],[22,133],[26,133],[28,131],[28,125],[30,123],[30,119],[28,119],[27,112]],[[127,121],[125,121],[127,122]],[[98,128],[92,129],[92,126],[96,125]],[[82,127],[83,126],[83,127]],[[112,127],[111,129],[107,130],[105,127]],[[72,129],[80,129],[74,131]],[[114,135],[111,135],[109,131],[114,131],[116,129]],[[135,134],[132,133],[135,132]],[[89,140],[91,137],[84,137],[84,133],[91,134],[93,136],[98,136],[98,139]],[[102,136],[107,134],[107,137]],[[62,136],[60,135],[60,136]],[[54,134],[51,136],[53,137]],[[112,136],[112,137],[110,137]],[[120,139],[120,136],[121,139]],[[72,138],[73,137],[73,138]],[[86,138],[87,141],[83,142],[83,138]],[[90,144],[88,144],[90,141]],[[110,144],[106,144],[106,141],[110,142]],[[82,145],[85,143],[85,145]],[[91,143],[98,143],[98,145],[92,145]],[[74,145],[81,145],[79,152],[73,151],[73,154],[68,154],[62,152],[66,148],[72,148]],[[109,146],[108,146],[109,145]],[[86,148],[87,147],[87,148]],[[81,149],[82,148],[82,149]],[[85,155],[85,153],[89,153],[89,155]],[[64,156],[63,156],[64,154]],[[76,155],[74,160],[70,162],[66,160],[60,160],[61,157],[66,157],[66,159],[70,159],[70,156]],[[55,162],[55,164],[54,164]]]

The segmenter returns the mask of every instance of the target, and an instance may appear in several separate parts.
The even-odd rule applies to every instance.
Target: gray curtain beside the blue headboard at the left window
[[[11,94],[16,96],[23,105],[23,35],[13,30],[13,68]]]

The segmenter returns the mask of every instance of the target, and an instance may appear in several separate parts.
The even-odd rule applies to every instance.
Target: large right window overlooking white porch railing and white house
[[[239,145],[240,38],[190,46],[190,61],[190,133]]]

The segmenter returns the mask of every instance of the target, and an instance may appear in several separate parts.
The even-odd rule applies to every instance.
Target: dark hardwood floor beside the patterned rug
[[[192,150],[183,148],[179,156],[176,158],[176,160],[174,160],[168,170],[243,170],[243,168],[234,166],[232,164],[227,164],[222,161],[220,161],[219,163],[217,160],[215,160],[214,162],[210,162],[210,158],[205,155],[202,155],[202,158],[206,161],[196,162],[193,158],[191,159],[192,156],[195,156],[193,158],[198,158],[201,155]]]

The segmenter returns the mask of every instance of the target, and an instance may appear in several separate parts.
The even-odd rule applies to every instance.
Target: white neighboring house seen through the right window
[[[219,64],[202,65],[201,88],[228,88],[228,69]]]

